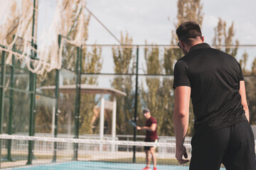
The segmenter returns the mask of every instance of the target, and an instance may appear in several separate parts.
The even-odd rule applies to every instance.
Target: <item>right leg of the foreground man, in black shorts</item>
[[[232,126],[230,147],[223,164],[227,170],[255,170],[255,140],[247,121]]]

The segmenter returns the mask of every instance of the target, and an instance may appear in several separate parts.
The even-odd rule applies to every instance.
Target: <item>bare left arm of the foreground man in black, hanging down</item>
[[[176,159],[179,164],[188,162],[188,155],[186,147],[183,146],[186,132],[188,131],[188,118],[189,118],[189,102],[191,96],[191,87],[178,86],[175,89],[174,98],[174,132],[176,137]]]

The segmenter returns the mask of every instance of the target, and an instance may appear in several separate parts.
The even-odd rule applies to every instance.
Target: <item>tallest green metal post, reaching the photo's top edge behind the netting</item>
[[[35,28],[35,16],[36,16],[36,0],[33,1],[33,21],[32,21],[32,40],[31,40],[31,46],[34,47],[34,28]],[[31,50],[31,57],[35,57],[35,52]],[[31,63],[31,68],[33,68],[33,64]],[[34,135],[34,122],[35,122],[35,100],[36,100],[36,75],[30,72],[29,76],[29,91],[30,91],[30,99],[31,99],[31,106],[30,106],[30,112],[29,112],[29,129],[28,129],[28,135],[33,136]],[[32,164],[33,159],[33,141],[28,141],[28,162],[27,164]]]

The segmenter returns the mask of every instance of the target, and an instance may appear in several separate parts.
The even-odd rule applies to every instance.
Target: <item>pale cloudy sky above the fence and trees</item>
[[[50,26],[56,6],[56,0],[39,0],[39,4],[42,2],[47,6],[41,5],[40,10],[47,13],[39,18],[38,35],[43,28],[47,29],[47,26]],[[0,3],[0,14],[4,14],[7,1],[0,0]],[[204,13],[201,29],[205,42],[212,44],[214,28],[218,24],[218,18],[222,18],[228,27],[234,23],[235,39],[240,41],[240,45],[256,45],[255,0],[201,0],[201,3]],[[119,39],[121,32],[128,33],[136,45],[144,45],[145,41],[149,44],[169,45],[171,30],[176,30],[174,23],[177,0],[87,0],[86,6],[115,37]],[[87,44],[94,43],[119,44],[95,18],[91,17]],[[247,67],[250,67],[256,57],[256,47],[240,48],[238,60],[245,51],[249,53]],[[105,62],[112,60],[111,57],[106,58]]]

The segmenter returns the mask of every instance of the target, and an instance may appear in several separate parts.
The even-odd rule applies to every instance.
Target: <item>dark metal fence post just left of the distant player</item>
[[[135,84],[135,103],[134,103],[134,123],[137,123],[137,98],[138,98],[138,74],[139,74],[139,46],[137,46],[137,60],[136,60],[136,84]],[[134,141],[136,141],[137,128],[134,128]],[[133,158],[132,162],[136,162],[136,146],[133,146]]]

